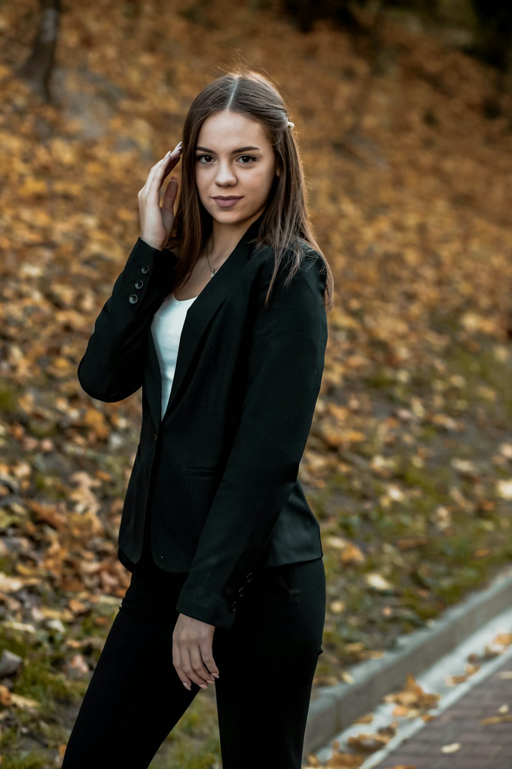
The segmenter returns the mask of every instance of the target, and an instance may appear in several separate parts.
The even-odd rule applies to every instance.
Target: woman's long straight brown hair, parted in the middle
[[[196,145],[201,125],[206,118],[226,109],[241,112],[263,125],[281,167],[281,174],[276,175],[269,192],[255,241],[256,248],[267,245],[274,253],[273,275],[265,304],[268,305],[285,253],[288,255],[286,269],[289,273],[285,285],[288,285],[299,270],[305,251],[312,249],[322,258],[322,271],[327,273],[324,307],[326,312],[331,311],[334,281],[329,264],[312,232],[302,161],[296,135],[288,127],[288,109],[269,78],[246,68],[231,70],[206,85],[194,99],[183,125],[180,197],[173,229],[166,244],[166,248],[179,257],[174,271],[173,290],[182,285],[189,275],[213,228],[212,217],[201,204],[197,191]],[[299,239],[306,242],[306,249]]]

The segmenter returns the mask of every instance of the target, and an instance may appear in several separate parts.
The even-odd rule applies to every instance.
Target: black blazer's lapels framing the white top
[[[254,244],[249,241],[256,238],[256,235],[258,235],[259,225],[261,224],[262,219],[263,214],[249,225],[249,228],[239,239],[229,257],[223,262],[219,270],[213,275],[213,278],[210,279],[203,288],[203,291],[200,292],[200,295],[192,302],[187,310],[180,337],[173,385],[170,390],[170,397],[163,419],[161,419],[162,381],[160,376],[160,365],[158,363],[157,351],[154,346],[151,328],[150,325],[148,326],[147,397],[151,415],[157,428],[160,425],[160,421],[167,419],[170,411],[172,411],[177,394],[180,392],[183,383],[186,381],[187,374],[190,370],[193,371],[193,363],[201,354],[203,345],[201,345],[200,342],[203,339],[207,325],[220,309],[220,306],[226,299],[230,289],[233,287],[236,278],[247,264],[254,248]]]

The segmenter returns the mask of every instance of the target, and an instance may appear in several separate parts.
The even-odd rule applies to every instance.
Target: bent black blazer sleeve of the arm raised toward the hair
[[[147,328],[176,261],[173,252],[137,238],[78,364],[78,381],[91,398],[122,401],[142,386]]]

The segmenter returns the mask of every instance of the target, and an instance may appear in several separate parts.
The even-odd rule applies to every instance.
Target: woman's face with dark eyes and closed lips
[[[201,126],[196,146],[200,201],[213,219],[236,224],[256,219],[265,208],[276,156],[261,123],[239,112],[216,112]],[[230,205],[216,198],[238,198]]]

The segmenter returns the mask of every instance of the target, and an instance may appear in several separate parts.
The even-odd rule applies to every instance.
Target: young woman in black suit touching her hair
[[[139,191],[140,238],[78,367],[101,401],[143,388],[119,532],[132,576],[64,769],[148,767],[208,684],[223,769],[301,766],[325,571],[297,476],[332,275],[292,128],[267,78],[223,75]],[[177,179],[161,207],[160,188],[181,156],[174,215]]]

